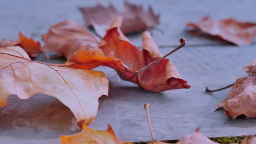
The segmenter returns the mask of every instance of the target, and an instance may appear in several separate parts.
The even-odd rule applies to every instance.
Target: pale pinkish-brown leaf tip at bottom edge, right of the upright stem
[[[199,132],[199,128],[194,132],[184,136],[176,144],[218,144],[208,139],[204,134]]]

